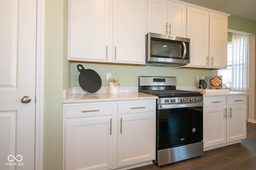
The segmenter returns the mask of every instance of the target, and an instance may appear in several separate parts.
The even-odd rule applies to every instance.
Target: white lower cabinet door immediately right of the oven
[[[204,148],[226,143],[225,107],[204,108]]]

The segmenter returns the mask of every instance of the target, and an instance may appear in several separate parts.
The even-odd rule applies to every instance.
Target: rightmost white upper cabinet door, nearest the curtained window
[[[210,67],[227,67],[228,17],[210,13]]]

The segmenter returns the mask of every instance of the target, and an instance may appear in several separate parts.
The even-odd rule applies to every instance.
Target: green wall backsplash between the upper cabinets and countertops
[[[138,86],[138,76],[176,76],[178,86],[197,86],[195,76],[206,76],[206,82],[210,75],[217,75],[217,70],[202,70],[188,68],[171,68],[160,66],[120,66],[104,64],[82,64],[85,69],[96,71],[101,79],[102,86],[108,86],[106,73],[112,73],[112,77],[118,78],[122,86]],[[79,72],[77,64],[70,65],[70,86],[77,87]]]

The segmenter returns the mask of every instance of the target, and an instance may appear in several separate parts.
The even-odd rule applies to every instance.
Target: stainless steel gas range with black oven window
[[[202,93],[176,86],[176,77],[139,77],[139,92],[158,96],[154,161],[158,166],[203,154]]]

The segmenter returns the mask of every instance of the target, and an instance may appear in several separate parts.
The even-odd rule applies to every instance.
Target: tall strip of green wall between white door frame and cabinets
[[[43,169],[62,170],[62,90],[69,86],[67,0],[46,0]],[[65,12],[64,12],[65,10]],[[65,15],[64,15],[65,14]],[[65,86],[64,86],[65,84]],[[67,85],[68,84],[68,85]]]

